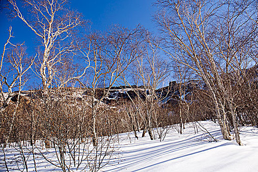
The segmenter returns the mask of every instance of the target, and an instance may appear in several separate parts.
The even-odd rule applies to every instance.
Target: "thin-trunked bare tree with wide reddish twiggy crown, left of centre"
[[[91,66],[89,71],[89,92],[91,108],[91,133],[93,145],[97,145],[96,116],[103,106],[102,101],[107,98],[111,87],[121,77],[127,67],[141,54],[141,27],[125,29],[114,26],[106,34],[92,33],[86,38],[86,57]],[[81,85],[87,88],[83,81]]]

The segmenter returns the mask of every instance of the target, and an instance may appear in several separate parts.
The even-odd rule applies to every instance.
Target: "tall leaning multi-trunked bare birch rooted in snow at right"
[[[222,75],[225,71],[238,69],[234,67],[235,63],[244,64],[247,61],[247,58],[239,60],[238,55],[256,30],[250,19],[242,15],[251,3],[241,4],[243,8],[239,9],[231,1],[158,0],[157,5],[163,10],[155,18],[166,44],[161,49],[172,60],[187,66],[201,77],[212,95],[224,139],[230,140],[225,121],[226,114],[230,114],[239,145],[241,142],[232,97]],[[237,24],[236,21],[241,23]]]

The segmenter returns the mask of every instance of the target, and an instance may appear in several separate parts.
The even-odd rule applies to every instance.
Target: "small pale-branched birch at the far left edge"
[[[25,78],[26,73],[32,66],[35,57],[26,59],[26,49],[23,45],[12,44],[10,39],[12,36],[12,27],[9,28],[9,36],[6,43],[3,46],[3,53],[0,58],[0,112],[3,111],[10,104],[11,99],[16,96],[16,103],[13,109],[12,117],[7,121],[8,129],[4,136],[4,147],[9,142],[10,134],[13,130],[14,121],[17,114],[17,108],[20,102],[21,91],[28,81]],[[16,89],[16,93],[13,89]],[[7,92],[5,92],[8,90]],[[4,125],[0,125],[0,128],[4,130]]]

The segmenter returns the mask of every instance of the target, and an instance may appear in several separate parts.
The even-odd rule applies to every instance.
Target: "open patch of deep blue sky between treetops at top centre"
[[[132,28],[142,24],[153,29],[151,15],[154,0],[73,0],[71,7],[93,22],[95,29],[105,29],[111,24]]]

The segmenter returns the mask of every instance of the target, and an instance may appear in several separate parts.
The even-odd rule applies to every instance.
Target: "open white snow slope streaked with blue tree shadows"
[[[151,141],[147,133],[144,138],[140,137],[141,132],[138,133],[139,140],[132,133],[124,133],[119,135],[119,144],[115,143],[119,148],[115,149],[110,163],[100,171],[258,172],[258,128],[241,127],[240,139],[243,145],[239,146],[234,140],[222,139],[218,124],[212,121],[201,121],[200,124],[218,142],[208,142],[212,139],[198,123],[197,128],[193,123],[187,124],[182,135],[171,128],[162,142],[158,139]],[[2,157],[2,152],[0,153]],[[11,153],[14,152],[10,151]],[[6,156],[8,157],[8,152]],[[33,171],[33,167],[30,162],[29,170]],[[3,168],[0,167],[0,171],[4,171]],[[37,171],[61,169],[47,165],[46,162],[38,166]]]

